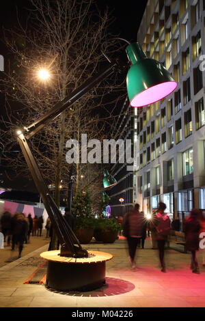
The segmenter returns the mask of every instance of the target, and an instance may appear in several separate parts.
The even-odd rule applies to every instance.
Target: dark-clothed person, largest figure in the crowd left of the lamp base
[[[18,214],[15,223],[14,223],[14,243],[18,245],[18,257],[21,256],[23,251],[23,243],[25,242],[25,237],[28,231],[28,223],[25,220],[23,214]]]

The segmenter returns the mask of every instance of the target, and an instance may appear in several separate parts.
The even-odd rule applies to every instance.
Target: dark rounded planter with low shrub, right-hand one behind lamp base
[[[118,238],[119,228],[118,221],[115,219],[98,219],[94,237],[104,243],[113,243]]]

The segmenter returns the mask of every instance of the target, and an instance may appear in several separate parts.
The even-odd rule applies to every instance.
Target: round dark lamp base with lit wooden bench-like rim
[[[59,291],[91,291],[105,284],[105,262],[113,255],[88,251],[88,257],[59,256],[60,251],[40,254],[48,261],[46,284]]]

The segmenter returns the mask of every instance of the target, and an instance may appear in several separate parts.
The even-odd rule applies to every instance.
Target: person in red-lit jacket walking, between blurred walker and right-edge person
[[[156,214],[156,240],[159,249],[159,260],[161,263],[161,272],[166,272],[165,268],[165,243],[171,232],[171,221],[165,213],[166,205],[159,202],[159,212]]]

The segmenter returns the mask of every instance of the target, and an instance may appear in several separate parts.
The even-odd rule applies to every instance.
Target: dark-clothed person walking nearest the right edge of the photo
[[[200,274],[199,265],[197,262],[196,251],[199,250],[200,245],[200,210],[193,209],[184,221],[184,235],[186,240],[186,247],[191,251],[191,270],[193,273]]]

